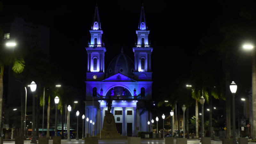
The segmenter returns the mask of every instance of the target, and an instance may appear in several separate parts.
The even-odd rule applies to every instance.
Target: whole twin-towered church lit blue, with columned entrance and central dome
[[[94,135],[102,130],[103,120],[108,113],[107,99],[112,100],[111,113],[115,116],[116,129],[122,135],[132,136],[138,132],[148,131],[148,117],[140,116],[138,108],[143,101],[152,98],[151,52],[153,48],[148,41],[148,25],[142,4],[140,21],[136,34],[137,43],[131,48],[134,61],[124,54],[123,49],[108,65],[105,71],[104,56],[106,48],[102,43],[103,31],[100,28],[100,18],[96,5],[92,23],[91,41],[88,42],[85,122],[86,133],[94,131]],[[106,53],[107,54],[107,53]],[[90,124],[90,121],[94,122]],[[151,131],[151,126],[150,126]]]

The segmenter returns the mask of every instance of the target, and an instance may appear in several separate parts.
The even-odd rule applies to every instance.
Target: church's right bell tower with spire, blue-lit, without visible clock
[[[150,42],[148,42],[148,24],[145,17],[144,6],[142,4],[140,12],[140,21],[137,34],[137,43],[133,47],[134,52],[134,78],[137,81],[151,81],[151,53],[153,47],[151,47]]]

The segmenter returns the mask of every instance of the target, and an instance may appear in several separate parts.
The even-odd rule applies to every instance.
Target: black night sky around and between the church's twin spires
[[[50,28],[50,56],[62,73],[61,85],[85,90],[87,54],[96,1],[3,1],[0,16],[19,15]],[[124,48],[134,60],[132,47],[142,1],[98,0],[105,43],[105,68]],[[198,57],[202,36],[216,30],[218,23],[238,15],[246,1],[148,1],[144,9],[153,46],[153,97],[179,76],[189,76]],[[106,69],[105,69],[106,71]]]

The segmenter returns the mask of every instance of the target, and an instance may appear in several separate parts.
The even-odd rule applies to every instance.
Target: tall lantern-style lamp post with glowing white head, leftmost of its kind
[[[36,92],[36,83],[34,81],[32,81],[32,83],[30,84],[30,89],[32,91],[33,94],[33,126],[32,126],[32,139],[30,143],[37,143],[36,142],[36,133],[35,133],[35,121],[36,121],[36,107],[35,107],[35,92]]]

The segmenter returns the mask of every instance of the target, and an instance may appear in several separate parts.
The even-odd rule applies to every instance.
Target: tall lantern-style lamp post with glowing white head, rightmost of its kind
[[[237,144],[236,143],[236,115],[235,115],[235,94],[237,90],[237,85],[234,81],[232,81],[229,87],[233,96],[233,143]]]

